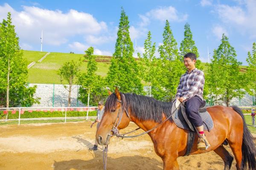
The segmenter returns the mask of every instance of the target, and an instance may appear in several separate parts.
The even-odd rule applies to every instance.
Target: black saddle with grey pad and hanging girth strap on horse
[[[212,117],[209,115],[209,112],[207,112],[207,107],[205,106],[206,102],[204,101],[203,104],[199,107],[198,113],[201,115],[203,124],[204,124],[204,130],[212,130],[214,124],[212,121]],[[177,125],[177,127],[180,127],[182,129],[189,130],[188,133],[188,140],[187,140],[187,150],[184,156],[188,156],[189,153],[192,150],[193,143],[195,141],[195,126],[191,123],[189,120],[187,114],[186,114],[186,105],[183,104],[180,105],[178,109],[175,107],[175,102],[173,102],[172,105],[172,119],[174,123]]]

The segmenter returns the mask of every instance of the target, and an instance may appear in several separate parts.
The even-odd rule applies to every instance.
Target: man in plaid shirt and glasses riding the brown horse
[[[192,52],[184,55],[183,63],[187,71],[180,78],[176,100],[181,103],[185,102],[188,117],[199,132],[198,149],[205,150],[205,142],[207,142],[208,147],[210,144],[204,135],[203,121],[198,113],[198,109],[203,103],[204,72],[195,68],[196,55]]]

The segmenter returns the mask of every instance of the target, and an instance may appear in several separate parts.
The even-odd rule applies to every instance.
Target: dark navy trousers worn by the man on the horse
[[[203,121],[201,116],[198,113],[199,107],[203,104],[203,101],[198,96],[194,96],[192,98],[189,98],[185,102],[186,104],[186,110],[188,117],[190,118],[190,121],[195,125],[195,127],[200,127],[203,125]]]

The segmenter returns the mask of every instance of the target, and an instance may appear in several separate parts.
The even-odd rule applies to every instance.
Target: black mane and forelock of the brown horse
[[[172,102],[157,101],[155,98],[131,93],[120,94],[121,100],[125,101],[127,109],[130,109],[131,114],[139,120],[161,122],[163,113],[166,118],[172,113]],[[108,96],[105,104],[105,109],[108,112],[111,112],[112,108],[116,108],[116,99],[115,93]]]

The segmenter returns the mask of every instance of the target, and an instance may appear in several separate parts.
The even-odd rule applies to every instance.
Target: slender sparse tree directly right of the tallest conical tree
[[[154,56],[156,50],[156,43],[151,42],[151,32],[148,32],[148,38],[144,42],[144,53],[143,57],[139,56],[140,59],[140,71],[142,72],[142,78],[146,83],[149,83],[149,96],[151,97],[151,86],[155,75],[154,65],[156,63],[156,57]]]

